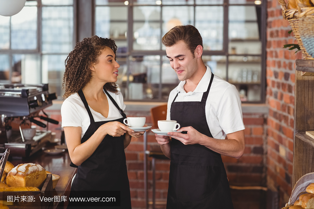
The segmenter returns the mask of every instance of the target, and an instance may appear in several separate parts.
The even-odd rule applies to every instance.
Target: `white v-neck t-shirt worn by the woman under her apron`
[[[107,91],[107,92],[116,101],[118,106],[122,110],[124,110],[125,104],[123,103],[123,97],[122,97],[121,92],[118,91],[118,95],[110,91]],[[95,122],[116,120],[118,118],[122,118],[122,115],[120,114],[119,110],[111,102],[107,94],[106,96],[109,103],[109,112],[108,112],[107,118],[105,118],[102,114],[94,111],[92,108],[89,107],[90,112],[92,113]],[[81,138],[84,136],[84,133],[86,132],[87,128],[90,125],[88,112],[84,106],[84,103],[81,100],[81,97],[79,97],[78,93],[74,93],[64,100],[61,106],[61,117],[62,117],[62,128],[66,126],[74,126],[74,127],[82,128]]]

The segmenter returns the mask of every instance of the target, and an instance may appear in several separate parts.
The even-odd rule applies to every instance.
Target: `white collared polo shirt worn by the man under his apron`
[[[171,103],[175,102],[200,102],[203,92],[207,91],[212,72],[207,70],[194,91],[185,92],[183,86],[186,81],[170,92],[167,109],[167,120],[170,120]],[[214,75],[211,88],[205,105],[206,119],[210,132],[214,138],[225,139],[226,134],[244,130],[242,108],[239,92],[236,87]]]

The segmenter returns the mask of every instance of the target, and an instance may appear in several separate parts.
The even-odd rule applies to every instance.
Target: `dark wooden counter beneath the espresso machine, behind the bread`
[[[64,153],[58,155],[49,155],[40,150],[27,159],[9,156],[8,161],[10,161],[14,166],[22,163],[39,164],[52,174],[59,175],[60,179],[56,188],[53,190],[53,196],[64,195],[67,196],[68,199],[72,178],[75,175],[77,169],[70,166],[71,159],[67,150]],[[66,205],[67,203],[64,202],[54,202],[54,205],[50,208],[63,208]]]

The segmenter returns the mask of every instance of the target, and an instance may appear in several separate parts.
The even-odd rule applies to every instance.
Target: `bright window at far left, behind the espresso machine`
[[[61,99],[73,44],[73,0],[26,1],[16,15],[0,16],[0,82],[49,83]]]

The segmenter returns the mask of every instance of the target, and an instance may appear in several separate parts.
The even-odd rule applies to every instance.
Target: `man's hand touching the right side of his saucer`
[[[205,136],[204,134],[199,133],[192,126],[180,128],[178,131],[187,131],[187,134],[178,132],[169,132],[168,134],[171,135],[171,138],[175,138],[181,141],[183,144],[200,144],[200,139]]]

